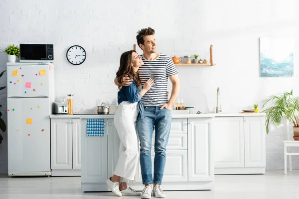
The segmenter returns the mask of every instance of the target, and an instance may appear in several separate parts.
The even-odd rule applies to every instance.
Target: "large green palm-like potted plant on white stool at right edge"
[[[266,113],[266,132],[269,134],[269,122],[279,126],[282,119],[293,122],[294,139],[299,139],[299,97],[293,96],[293,90],[280,95],[268,97],[262,101],[262,107],[266,107],[262,112]]]

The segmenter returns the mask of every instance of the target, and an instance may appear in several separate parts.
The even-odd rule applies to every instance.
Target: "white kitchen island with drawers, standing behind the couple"
[[[113,175],[116,168],[120,140],[112,118],[104,119],[105,136],[87,137],[87,119],[81,118],[81,188],[83,192],[109,191],[106,180]],[[166,148],[163,190],[214,189],[212,120],[213,118],[172,119]],[[152,163],[153,158],[152,143]],[[133,188],[139,191],[143,190],[140,164],[137,167],[135,180]]]

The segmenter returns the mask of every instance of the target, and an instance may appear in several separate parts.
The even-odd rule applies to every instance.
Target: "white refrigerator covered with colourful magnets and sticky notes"
[[[8,175],[51,175],[54,65],[7,63]]]

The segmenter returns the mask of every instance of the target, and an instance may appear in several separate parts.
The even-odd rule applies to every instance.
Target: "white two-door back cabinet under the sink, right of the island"
[[[264,174],[265,116],[216,117],[215,174]]]

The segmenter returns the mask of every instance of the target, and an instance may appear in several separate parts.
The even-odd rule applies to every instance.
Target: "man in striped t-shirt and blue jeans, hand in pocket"
[[[172,59],[167,55],[156,52],[154,33],[155,31],[149,27],[138,31],[136,36],[137,43],[143,50],[142,60],[144,62],[144,65],[138,70],[139,77],[143,84],[150,77],[154,79],[154,84],[142,98],[145,107],[144,118],[139,116],[137,120],[141,146],[140,166],[143,184],[145,185],[141,194],[142,199],[151,198],[151,184],[153,184],[154,196],[156,198],[165,198],[160,185],[165,167],[165,151],[172,119],[171,110],[180,88],[177,70]],[[172,92],[169,100],[167,96],[168,77],[172,83]],[[131,83],[129,78],[124,78],[123,80],[124,86]],[[115,83],[118,85],[117,79],[115,79]],[[153,129],[155,129],[155,155],[152,176],[150,152]]]

